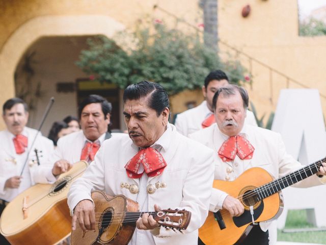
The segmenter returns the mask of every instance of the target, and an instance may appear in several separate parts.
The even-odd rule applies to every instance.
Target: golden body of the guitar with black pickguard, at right
[[[242,197],[243,194],[250,190],[273,181],[273,179],[263,168],[253,167],[244,171],[234,181],[214,180],[213,188],[223,190],[232,197],[237,198]],[[225,229],[220,228],[213,212],[208,213],[204,225],[199,229],[199,237],[206,245],[229,245],[243,240],[252,228],[250,206],[253,206],[255,222],[273,220],[283,211],[283,200],[279,192],[258,202],[255,200],[243,201],[241,198],[238,199],[245,208],[241,216],[232,218],[225,209],[222,209],[220,212],[225,223]]]

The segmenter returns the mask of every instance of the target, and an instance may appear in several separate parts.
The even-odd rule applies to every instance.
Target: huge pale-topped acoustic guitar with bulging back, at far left
[[[67,205],[69,186],[82,176],[88,163],[76,162],[53,184],[36,184],[21,192],[3,211],[0,232],[12,245],[50,245],[71,232]]]

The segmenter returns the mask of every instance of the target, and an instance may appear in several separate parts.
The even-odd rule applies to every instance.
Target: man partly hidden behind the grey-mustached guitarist
[[[202,92],[205,100],[197,107],[186,110],[177,115],[175,127],[179,133],[188,136],[215,122],[212,99],[214,93],[221,87],[229,84],[229,78],[222,70],[211,71],[205,78]],[[247,110],[245,124],[257,126],[254,113]]]

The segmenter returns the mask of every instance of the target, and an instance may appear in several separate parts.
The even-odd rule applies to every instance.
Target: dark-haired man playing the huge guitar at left
[[[92,94],[78,107],[79,124],[82,130],[66,135],[58,140],[52,162],[53,176],[68,171],[72,164],[80,160],[91,162],[100,145],[112,134],[108,131],[112,105],[102,96]]]

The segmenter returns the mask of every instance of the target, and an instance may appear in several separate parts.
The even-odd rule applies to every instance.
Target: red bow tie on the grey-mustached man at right
[[[232,136],[222,144],[219,150],[219,156],[222,161],[229,162],[234,160],[235,155],[240,159],[251,159],[255,148],[252,144],[242,136]]]

